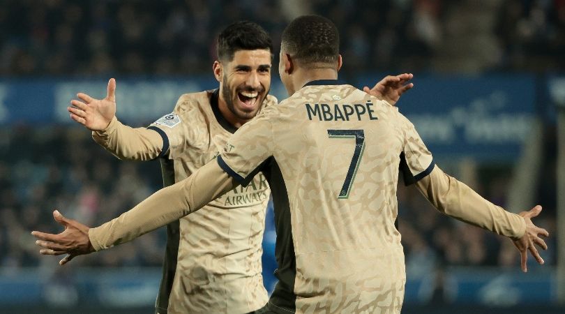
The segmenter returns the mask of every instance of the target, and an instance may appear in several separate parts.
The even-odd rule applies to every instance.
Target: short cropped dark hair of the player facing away
[[[340,54],[340,35],[333,22],[319,15],[303,15],[288,24],[281,48],[302,66],[335,64]]]

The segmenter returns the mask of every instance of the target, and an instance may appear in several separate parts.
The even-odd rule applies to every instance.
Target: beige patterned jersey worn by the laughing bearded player
[[[219,113],[217,99],[217,91],[185,94],[172,114],[149,127],[166,135],[174,182],[215,158],[234,132]],[[264,105],[276,102],[268,96]],[[258,174],[246,188],[235,188],[180,219],[169,314],[248,313],[266,304],[261,244],[269,195],[266,179]]]

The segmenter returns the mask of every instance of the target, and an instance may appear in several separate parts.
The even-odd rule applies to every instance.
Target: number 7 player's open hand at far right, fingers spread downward
[[[539,255],[536,244],[544,250],[548,249],[548,245],[545,244],[545,241],[543,241],[543,239],[541,239],[540,237],[549,237],[548,230],[537,227],[536,225],[534,225],[534,223],[532,223],[532,218],[538,216],[539,213],[541,213],[541,206],[537,205],[529,211],[522,211],[519,214],[520,216],[522,216],[522,218],[524,218],[526,222],[526,232],[520,239],[513,240],[513,242],[516,248],[518,248],[518,251],[520,251],[522,271],[524,272],[528,271],[528,251],[538,261],[539,264],[543,264],[543,258],[541,258],[541,256]]]

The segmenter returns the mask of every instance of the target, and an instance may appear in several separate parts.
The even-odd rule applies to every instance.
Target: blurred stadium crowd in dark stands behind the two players
[[[277,45],[286,15],[292,15],[284,0],[2,2],[10,10],[0,10],[0,75],[10,76],[208,73],[215,54],[212,38],[225,24],[259,22]],[[485,14],[484,6],[494,6],[497,13]],[[313,0],[294,10],[326,15],[338,24],[349,72],[565,70],[563,0]],[[469,36],[462,33],[474,34],[473,40],[463,40]],[[40,258],[29,235],[61,230],[52,209],[98,225],[161,186],[158,163],[120,162],[83,128],[1,128],[0,151],[0,267],[54,263]],[[555,153],[546,156],[554,157],[548,157],[541,174],[538,202],[545,209],[541,225],[551,233]],[[511,165],[491,168],[472,187],[504,206]],[[444,264],[519,264],[510,241],[442,217],[414,188],[400,187],[398,197],[409,276]],[[160,266],[163,239],[163,233],[146,234],[76,264]],[[544,255],[547,264],[555,262],[552,241],[555,237]]]

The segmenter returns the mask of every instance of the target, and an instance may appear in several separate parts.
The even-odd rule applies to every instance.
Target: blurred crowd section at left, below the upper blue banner
[[[119,163],[82,128],[15,127],[8,133],[0,154],[0,266],[40,264],[29,232],[61,231],[53,209],[99,225],[161,186],[158,163]],[[163,239],[162,232],[151,232],[77,264],[159,266]]]

